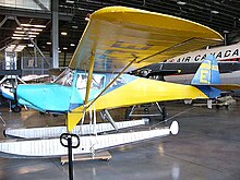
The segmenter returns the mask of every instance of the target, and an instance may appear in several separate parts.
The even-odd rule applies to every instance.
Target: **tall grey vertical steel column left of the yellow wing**
[[[59,0],[51,0],[51,20],[52,20],[52,65],[59,68],[59,22],[58,22]]]

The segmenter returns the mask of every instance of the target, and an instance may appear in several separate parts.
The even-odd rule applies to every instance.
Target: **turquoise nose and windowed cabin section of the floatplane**
[[[117,74],[94,73],[89,100],[94,99]],[[136,79],[122,74],[107,91],[120,87]],[[17,100],[41,112],[65,113],[83,105],[86,93],[87,74],[67,69],[53,83],[24,84],[16,89]]]

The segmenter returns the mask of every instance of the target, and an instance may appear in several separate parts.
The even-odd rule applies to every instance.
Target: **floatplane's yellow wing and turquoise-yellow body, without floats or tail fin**
[[[68,113],[71,131],[93,101],[96,110],[100,110],[151,101],[207,98],[195,85],[130,74],[121,74],[108,89],[105,87],[116,76],[112,72],[135,70],[221,40],[219,33],[188,20],[125,7],[104,8],[91,15],[69,69],[52,84],[20,85],[19,101],[45,112]],[[205,81],[205,72],[201,73]],[[94,85],[95,75],[100,86]],[[79,86],[80,76],[85,86]],[[101,82],[99,76],[105,80]]]

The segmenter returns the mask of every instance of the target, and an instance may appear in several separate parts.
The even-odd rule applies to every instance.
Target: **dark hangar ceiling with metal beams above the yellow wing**
[[[71,44],[77,45],[87,23],[85,20],[87,14],[109,5],[132,7],[184,17],[214,28],[228,37],[228,41],[232,41],[232,39],[239,37],[239,0],[59,0],[59,12],[64,16],[60,17],[59,33],[68,33],[67,36],[59,35],[60,50],[72,53],[75,47],[71,46]],[[17,17],[21,23],[35,21],[38,24],[47,25],[44,32],[37,36],[36,40],[41,50],[50,51],[51,45],[47,45],[47,41],[51,41],[50,19],[46,14],[35,14],[26,17],[24,13],[22,15],[19,14]],[[3,19],[4,14],[1,12],[0,22]],[[7,21],[0,27],[0,49],[11,43],[11,36],[15,27],[16,23],[13,20]]]

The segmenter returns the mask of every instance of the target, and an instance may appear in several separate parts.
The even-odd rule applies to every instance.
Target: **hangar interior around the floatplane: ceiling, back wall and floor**
[[[21,80],[32,75],[34,83],[50,82],[52,76],[49,75],[49,69],[69,65],[91,14],[112,5],[169,14],[203,24],[224,37],[218,46],[231,46],[240,40],[238,0],[0,0],[1,80],[11,75],[17,75]],[[235,52],[240,57],[239,49],[240,45]],[[229,73],[227,81],[231,81],[231,77]],[[233,79],[239,82],[238,74]],[[167,123],[159,121],[163,115],[144,116],[151,121],[137,129],[165,127],[178,120],[178,135],[111,148],[109,161],[74,161],[74,179],[240,179],[239,97],[238,91],[235,93],[235,100],[230,99],[229,103],[228,99],[229,104],[219,104],[217,108],[203,107],[202,101],[197,106],[183,105],[182,101],[165,103]],[[15,113],[10,106],[9,100],[1,97],[2,141],[8,140],[3,132],[9,128],[57,127],[65,123],[64,116],[40,115],[24,108]],[[143,113],[158,113],[155,105],[137,110],[141,111],[141,108]],[[115,120],[122,120],[127,118],[129,109],[120,108],[110,112]],[[97,115],[98,119],[100,115]],[[53,180],[68,179],[69,176],[68,164],[61,165],[60,159],[55,157],[9,158],[2,154],[0,161],[0,179]]]

